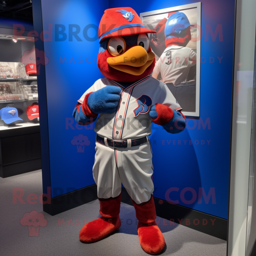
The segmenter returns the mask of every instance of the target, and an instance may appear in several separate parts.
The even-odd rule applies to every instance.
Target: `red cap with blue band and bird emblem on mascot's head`
[[[110,8],[104,11],[99,25],[99,40],[113,36],[156,33],[145,28],[139,15],[131,7]]]

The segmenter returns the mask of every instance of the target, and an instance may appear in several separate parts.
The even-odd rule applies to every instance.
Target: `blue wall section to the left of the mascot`
[[[84,126],[76,125],[72,111],[82,94],[102,77],[94,61],[98,55],[99,41],[85,40],[83,30],[88,24],[98,25],[107,8],[108,2],[103,0],[42,1],[43,29],[49,30],[49,24],[53,24],[53,32],[50,33],[53,34],[52,41],[44,42],[44,51],[49,59],[48,63],[46,59],[45,74],[50,177],[46,177],[43,184],[44,193],[47,186],[52,187],[52,197],[94,184],[92,166],[95,155],[95,132],[89,127],[86,127],[89,129],[86,130]],[[60,24],[59,30],[65,27],[66,40],[60,41],[63,37],[55,31],[55,24]],[[69,38],[69,24],[80,27],[78,36],[82,41],[77,41],[74,37]],[[95,34],[98,38],[98,31],[90,28],[87,36],[93,38]],[[91,143],[84,146],[84,152],[77,153],[77,147],[71,144],[71,140],[79,134],[88,136]]]

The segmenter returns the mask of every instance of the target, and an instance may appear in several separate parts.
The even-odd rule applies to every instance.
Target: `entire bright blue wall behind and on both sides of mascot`
[[[45,65],[45,73],[51,170],[45,176],[43,173],[44,192],[47,191],[47,186],[51,186],[52,197],[55,197],[94,183],[92,166],[95,132],[92,127],[77,126],[71,116],[76,100],[102,77],[94,61],[98,54],[99,43],[98,40],[92,42],[85,40],[83,36],[85,26],[88,24],[98,26],[104,10],[111,7],[129,5],[140,14],[140,12],[190,3],[193,2],[131,0],[127,4],[116,0],[110,0],[109,3],[103,0],[42,1],[44,30],[48,30],[49,23],[53,24],[53,40],[44,42],[44,51],[49,58],[49,63]],[[195,124],[195,129],[186,128],[177,135],[168,134],[160,127],[153,126],[150,137],[154,164],[153,180],[156,187],[154,196],[164,200],[169,200],[170,196],[171,200],[178,200],[176,202],[181,205],[225,219],[228,212],[234,8],[234,0],[202,1],[203,30],[206,24],[210,24],[213,31],[217,24],[221,24],[223,29],[223,41],[220,42],[218,36],[215,41],[212,41],[211,36],[208,41],[204,41],[204,35],[201,40],[201,56],[207,61],[201,64],[200,117],[204,123],[206,120],[210,123],[203,129],[198,125],[198,120],[190,120],[188,126],[192,127]],[[58,34],[55,31],[55,24],[64,25],[65,33],[69,24],[79,25],[81,32],[78,36],[82,41],[77,41],[74,37],[70,38],[72,41],[68,41],[68,36],[64,41],[56,41],[61,40],[58,39],[61,36],[55,39],[55,35]],[[95,33],[95,30],[90,28],[87,35],[93,38]],[[66,63],[65,60],[62,63],[64,57]],[[214,57],[215,61],[209,63],[209,57]],[[221,63],[217,57],[223,57]],[[199,127],[201,129],[198,129]],[[88,136],[90,145],[85,145],[82,149],[72,145],[71,141],[79,134]],[[190,140],[192,144],[189,144]],[[197,141],[198,145],[195,144]],[[203,142],[204,144],[201,145]],[[172,188],[178,191],[170,192]],[[212,192],[208,204],[204,198],[202,203],[200,200],[198,202],[201,188],[206,195],[209,191]],[[193,193],[196,197],[193,199],[192,192],[189,191],[184,194],[184,189],[195,191]],[[193,200],[188,202],[191,199]]]

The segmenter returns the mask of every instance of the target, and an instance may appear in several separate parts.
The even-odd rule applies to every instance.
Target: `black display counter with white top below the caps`
[[[40,125],[0,126],[0,177],[41,169]]]

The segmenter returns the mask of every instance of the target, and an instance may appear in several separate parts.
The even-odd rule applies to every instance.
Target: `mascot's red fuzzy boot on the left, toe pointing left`
[[[119,218],[121,194],[115,198],[100,199],[100,217],[84,225],[79,239],[82,243],[93,243],[108,236],[121,227]]]

